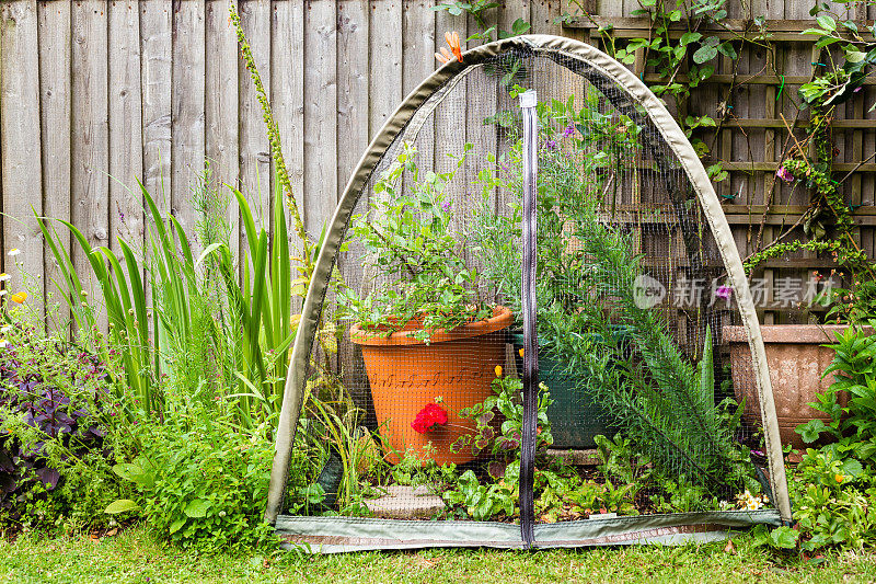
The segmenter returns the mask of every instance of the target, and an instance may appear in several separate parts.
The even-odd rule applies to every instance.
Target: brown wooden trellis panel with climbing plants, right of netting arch
[[[741,13],[742,7],[729,3],[730,16],[724,21],[724,28],[699,28],[704,35],[717,35],[723,39],[760,39],[769,48],[746,44],[738,59],[719,57],[715,75],[692,91],[688,102],[688,113],[710,115],[718,122],[717,131],[698,131],[696,136],[712,146],[706,165],[721,162],[729,178],[717,183],[716,191],[724,201],[724,210],[734,231],[740,254],[745,257],[764,244],[773,241],[787,229],[798,225],[808,209],[808,192],[797,186],[791,188],[776,182],[775,171],[781,157],[794,137],[803,139],[808,126],[808,111],[799,108],[797,90],[802,83],[811,79],[819,67],[814,51],[816,36],[802,35],[812,27],[809,5],[787,2],[785,5],[746,4],[749,12]],[[611,24],[610,34],[618,46],[631,38],[647,38],[650,22],[641,18],[630,18],[618,11],[612,2],[602,7],[590,7],[592,19],[578,18],[565,23],[566,31],[575,36],[606,47],[607,43],[598,32],[600,26]],[[760,11],[759,11],[760,9]],[[841,11],[845,5],[838,5]],[[564,11],[575,13],[574,3],[564,2]],[[736,13],[735,13],[736,12]],[[842,12],[841,12],[842,13]],[[599,15],[596,15],[599,14]],[[766,36],[753,24],[753,16],[764,14]],[[867,14],[862,10],[849,12],[848,18],[865,21]],[[862,27],[863,28],[863,27]],[[687,32],[679,24],[670,28],[669,36],[678,38]],[[736,43],[737,50],[742,46]],[[660,76],[646,70],[643,59],[636,60],[631,69],[648,83],[660,82]],[[687,81],[682,73],[679,79]],[[876,95],[876,80],[867,79],[864,88],[848,103],[837,108],[833,122],[833,139],[838,149],[833,170],[835,178],[845,178],[845,195],[854,208],[854,220],[862,247],[868,254],[874,252],[874,226],[876,226],[876,204],[874,203],[874,181],[876,176],[876,116],[867,111]],[[669,103],[672,107],[672,103]],[[794,137],[789,137],[788,127]],[[776,183],[776,184],[774,184]],[[802,236],[802,228],[792,230],[792,236]],[[793,239],[793,237],[787,238]],[[817,257],[809,252],[798,252],[788,259],[771,260],[762,264],[756,276],[766,280],[766,322],[797,321],[807,318],[807,310],[788,309],[776,300],[773,290],[781,278],[806,280],[812,270],[822,273],[835,267],[830,257]]]

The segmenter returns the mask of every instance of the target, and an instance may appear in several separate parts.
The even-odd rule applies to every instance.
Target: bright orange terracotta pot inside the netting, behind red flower
[[[379,430],[397,451],[387,457],[390,462],[399,462],[407,448],[424,456],[429,443],[439,465],[474,459],[470,448],[450,451],[463,433],[474,433],[474,422],[459,417],[458,412],[493,394],[489,385],[496,365],[505,363],[505,333],[499,331],[512,320],[510,310],[496,307],[491,319],[436,331],[428,345],[413,336],[416,324],[390,336],[358,324],[350,328],[350,340],[362,350]],[[416,432],[411,423],[439,396],[448,423],[424,434]]]

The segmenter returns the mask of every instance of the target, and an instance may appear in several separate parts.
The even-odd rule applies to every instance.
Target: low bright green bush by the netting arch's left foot
[[[113,468],[137,495],[106,513],[134,513],[174,543],[206,552],[274,543],[262,522],[273,458],[266,428],[238,432],[197,401],[175,405],[173,420],[138,424],[140,455]]]

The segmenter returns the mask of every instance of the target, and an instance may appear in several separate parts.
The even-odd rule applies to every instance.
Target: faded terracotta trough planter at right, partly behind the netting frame
[[[821,345],[837,342],[837,333],[845,324],[762,324],[760,330],[766,348],[766,365],[773,386],[773,401],[779,417],[782,444],[796,449],[807,445],[794,430],[809,420],[820,419],[826,424],[830,416],[814,410],[809,402],[817,402],[816,393],[828,389],[833,376],[821,378],[833,360],[834,352]],[[746,399],[746,422],[760,426],[760,406],[751,366],[751,351],[744,327],[725,327],[724,341],[730,345],[730,364],[736,399]],[[845,396],[840,403],[845,405]]]

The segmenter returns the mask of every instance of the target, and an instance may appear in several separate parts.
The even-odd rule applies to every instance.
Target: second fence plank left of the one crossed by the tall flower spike
[[[194,242],[192,186],[204,170],[205,3],[174,4],[171,93],[171,213]]]

